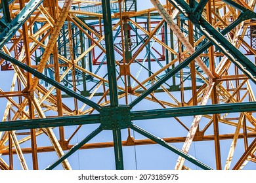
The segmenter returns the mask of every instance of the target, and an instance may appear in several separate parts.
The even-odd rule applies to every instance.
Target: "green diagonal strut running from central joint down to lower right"
[[[190,161],[191,163],[194,163],[194,165],[197,165],[198,167],[201,167],[202,169],[205,169],[205,170],[213,170],[208,165],[205,165],[205,163],[202,163],[201,161],[194,158],[193,156],[190,156],[189,154],[186,154],[186,153],[182,152],[182,150],[179,150],[175,146],[172,146],[171,144],[168,144],[167,142],[163,141],[163,139],[161,139],[159,137],[156,137],[155,135],[152,135],[151,133],[148,133],[148,131],[145,131],[144,129],[138,127],[137,125],[132,125],[131,128],[133,130],[137,131],[138,133],[140,133],[141,135],[144,135],[148,139],[151,139],[152,141],[160,144],[161,146],[171,150],[175,154],[178,154],[179,156],[182,156],[182,158],[185,158],[188,161]]]

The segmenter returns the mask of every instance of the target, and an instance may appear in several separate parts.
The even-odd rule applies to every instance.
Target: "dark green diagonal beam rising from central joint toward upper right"
[[[172,0],[169,0],[172,1]],[[225,29],[223,29],[223,31],[221,31],[221,34],[226,35],[229,31],[231,31],[232,29],[234,29],[234,27],[236,27],[236,25],[240,24],[243,19],[246,17],[245,14],[240,14],[240,18],[235,20],[234,22],[232,22],[232,24],[228,25]],[[147,95],[149,95],[151,92],[153,92],[154,90],[156,90],[158,87],[161,86],[161,84],[163,84],[164,82],[166,82],[166,80],[168,80],[169,78],[171,78],[172,76],[174,76],[177,72],[179,72],[182,68],[186,67],[186,65],[188,65],[191,61],[193,61],[195,58],[197,58],[198,56],[200,56],[200,54],[202,54],[202,52],[204,52],[205,50],[207,50],[207,48],[209,48],[211,45],[213,45],[210,41],[206,42],[205,44],[203,44],[203,46],[201,46],[200,48],[198,48],[198,50],[196,50],[196,52],[194,52],[194,54],[192,54],[191,56],[189,56],[188,58],[186,58],[182,63],[180,63],[179,65],[177,65],[177,67],[175,67],[174,69],[172,69],[171,71],[169,71],[169,73],[167,73],[163,78],[161,78],[160,80],[158,80],[158,82],[156,82],[153,86],[151,86],[150,88],[148,88],[148,90],[146,90],[145,92],[143,92],[137,99],[135,99],[134,101],[132,101],[129,106],[131,108],[133,108],[135,105],[137,105],[137,103],[139,103],[140,101],[142,101],[142,99],[144,99],[144,97],[146,97]]]

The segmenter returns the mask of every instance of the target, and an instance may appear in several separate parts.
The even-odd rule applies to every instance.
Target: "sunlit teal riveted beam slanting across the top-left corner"
[[[30,15],[43,3],[43,0],[30,0],[10,24],[0,33],[0,48],[18,31]]]

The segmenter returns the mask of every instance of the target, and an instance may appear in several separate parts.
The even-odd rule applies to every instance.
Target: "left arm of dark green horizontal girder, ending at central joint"
[[[35,129],[43,127],[58,127],[69,125],[100,124],[100,115],[62,116],[56,118],[41,118],[33,120],[17,120],[13,122],[1,122],[0,131],[12,131],[20,129]]]

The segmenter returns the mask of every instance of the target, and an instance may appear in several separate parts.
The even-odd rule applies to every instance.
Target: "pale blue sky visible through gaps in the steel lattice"
[[[165,1],[161,1],[163,4],[165,4]],[[138,8],[139,10],[145,9],[145,8],[151,8],[153,7],[151,3],[140,3]],[[156,63],[153,63],[154,69],[158,69],[159,65]],[[96,66],[95,66],[96,67]],[[133,67],[135,69],[136,66]],[[137,67],[136,67],[137,68]],[[104,75],[104,72],[106,71],[106,67],[103,67],[100,70],[100,75]],[[146,73],[146,72],[145,72]],[[146,75],[142,72],[142,76]],[[5,78],[5,83],[11,84],[13,71],[5,71],[0,72],[0,78]],[[8,84],[1,83],[1,88],[5,91],[9,91],[10,86]],[[255,85],[252,84],[253,90],[255,91]],[[179,93],[173,92],[173,95],[179,95]],[[165,99],[165,95],[162,95],[161,93],[156,93],[156,96],[158,99]],[[186,100],[191,98],[190,93],[186,92]],[[135,99],[135,97],[129,98],[129,101],[132,101]],[[93,100],[97,101],[98,97],[95,97]],[[0,98],[0,102],[5,101],[5,99]],[[73,105],[73,99],[63,99],[64,103],[68,105]],[[125,103],[124,99],[120,100],[120,103]],[[79,105],[82,105],[79,103]],[[5,105],[3,105],[5,106]],[[155,105],[151,102],[145,102],[142,101],[138,105],[136,105],[133,110],[146,110],[146,109],[154,109],[154,108],[160,108],[160,105]],[[0,110],[0,116],[3,116],[4,110]],[[49,113],[51,114],[51,113]],[[54,114],[54,113],[53,113]],[[234,114],[238,115],[239,114]],[[190,117],[183,117],[180,118],[184,124],[189,128],[190,124],[193,120],[193,118]],[[206,124],[209,122],[209,120],[202,118],[202,124]],[[173,118],[167,118],[167,119],[161,119],[161,120],[144,120],[144,121],[138,121],[135,122],[135,124],[139,125],[140,127],[146,129],[150,133],[158,136],[158,137],[181,137],[182,135],[186,137],[187,131],[184,130],[181,125],[177,123]],[[230,127],[224,124],[220,125],[220,132],[221,134],[224,133],[233,133],[235,131],[234,127]],[[77,142],[81,141],[84,137],[89,135],[94,129],[96,129],[98,125],[85,125],[83,126],[77,135],[72,139],[70,144],[76,144]],[[203,125],[202,125],[203,126]],[[200,127],[202,127],[200,125]],[[71,127],[65,127],[66,129],[66,137],[69,137],[72,132],[76,129],[77,126],[71,126]],[[213,134],[212,131],[213,127],[210,127],[208,131],[206,131],[207,134]],[[58,130],[54,129],[54,132],[56,133],[56,136],[58,136]],[[70,134],[68,134],[70,133]],[[131,131],[131,134],[135,139],[145,139],[145,137],[142,137],[142,135],[139,135],[138,133]],[[22,137],[20,137],[22,138]],[[41,135],[37,138],[37,141],[40,142],[40,146],[51,146],[51,142],[46,140],[46,135]],[[125,141],[127,139],[127,129],[122,130],[122,140]],[[92,139],[89,143],[93,142],[109,142],[112,141],[112,131],[102,131],[99,135],[97,135],[94,139]],[[226,161],[228,149],[230,147],[232,140],[228,141],[221,141],[221,149],[223,152],[222,154],[222,160],[223,160],[223,167],[224,162]],[[251,140],[249,140],[251,141]],[[183,143],[173,143],[173,146],[181,149]],[[22,148],[30,146],[30,142],[26,142],[21,145]],[[244,144],[243,140],[239,139],[237,144],[236,152],[234,154],[234,161],[231,167],[234,165],[234,162],[240,158],[242,153],[244,152]],[[206,163],[210,167],[213,167],[215,169],[215,159],[213,158],[215,155],[214,152],[214,142],[213,141],[204,141],[204,142],[193,142],[192,146],[190,148],[189,154],[194,156],[195,158],[198,158],[203,163]],[[25,159],[28,163],[29,169],[32,169],[32,157],[30,154],[25,154]],[[5,159],[7,162],[8,157],[2,156],[3,159]],[[39,153],[38,154],[39,161],[43,159],[43,161],[40,161],[39,163],[39,169],[45,169],[48,165],[53,163],[53,161],[57,158],[55,152],[49,152],[49,153]],[[146,145],[146,146],[125,146],[123,147],[123,158],[124,158],[124,164],[125,169],[173,169],[175,167],[176,161],[177,161],[177,154],[174,154],[173,152],[161,147],[159,144],[152,144],[152,145]],[[15,169],[21,169],[20,164],[18,163],[18,158],[15,155],[14,156],[14,167]],[[70,161],[70,164],[72,165],[73,169],[115,169],[115,163],[114,163],[114,148],[98,148],[98,149],[89,149],[89,150],[80,150],[78,152],[75,152],[70,158],[68,158]],[[190,167],[191,169],[200,169],[196,167],[196,165],[193,165],[189,161],[186,161],[185,165],[187,167]],[[61,165],[58,165],[56,169],[62,169]],[[245,169],[256,169],[256,164],[249,162],[248,165],[245,167]]]

